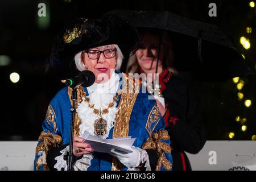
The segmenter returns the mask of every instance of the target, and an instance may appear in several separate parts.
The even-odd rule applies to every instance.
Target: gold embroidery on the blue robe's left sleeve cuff
[[[40,151],[43,151],[46,154],[44,156],[46,158],[48,151],[51,148],[59,147],[59,145],[62,143],[62,138],[59,135],[54,135],[50,133],[50,131],[48,131],[47,133],[42,131],[38,138],[38,141],[41,143],[39,143],[38,146],[36,146],[36,154],[38,154],[38,152]],[[36,170],[38,170],[40,166],[43,166],[44,170],[49,169],[47,164],[39,164],[39,159],[37,159]]]

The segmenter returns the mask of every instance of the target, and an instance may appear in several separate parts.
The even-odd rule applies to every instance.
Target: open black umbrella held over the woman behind
[[[179,72],[191,72],[201,81],[225,81],[251,74],[243,57],[225,34],[213,24],[198,22],[169,11],[114,10],[138,28],[170,32]]]

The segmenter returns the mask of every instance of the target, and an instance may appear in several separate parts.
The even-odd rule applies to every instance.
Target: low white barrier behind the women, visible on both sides
[[[0,142],[0,169],[30,171],[38,142]],[[188,154],[192,169],[256,170],[255,141],[207,141],[199,154]]]

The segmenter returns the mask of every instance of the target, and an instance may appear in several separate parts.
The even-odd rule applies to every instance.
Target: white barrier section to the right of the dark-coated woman
[[[255,141],[207,141],[198,154],[186,154],[195,171],[256,170]]]

